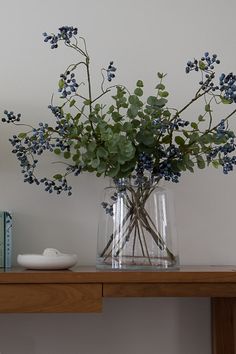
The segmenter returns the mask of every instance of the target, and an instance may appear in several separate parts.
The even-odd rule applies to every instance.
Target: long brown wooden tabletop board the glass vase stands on
[[[0,269],[0,283],[236,283],[236,266],[181,266],[176,270],[129,271],[77,267],[63,271]]]

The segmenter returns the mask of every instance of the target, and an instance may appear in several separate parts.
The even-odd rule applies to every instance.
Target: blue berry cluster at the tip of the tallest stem
[[[49,42],[51,44],[51,49],[56,49],[58,48],[58,41],[63,40],[66,44],[70,44],[71,38],[76,36],[77,33],[78,29],[76,27],[63,26],[59,28],[58,34],[48,35],[44,32],[44,42]]]

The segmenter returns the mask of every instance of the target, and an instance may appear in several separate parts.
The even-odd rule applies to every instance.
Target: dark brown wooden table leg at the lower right
[[[212,354],[235,354],[236,299],[213,298],[212,306]]]

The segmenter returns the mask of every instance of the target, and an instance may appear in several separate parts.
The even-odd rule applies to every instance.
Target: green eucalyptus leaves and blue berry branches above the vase
[[[236,103],[236,76],[229,73],[216,78],[215,65],[220,63],[216,54],[205,53],[200,60],[187,62],[187,74],[200,74],[196,93],[183,107],[170,108],[166,75],[160,72],[154,94],[147,99],[143,99],[141,80],[132,92],[122,85],[105,86],[106,81],[110,83],[115,78],[112,61],[101,70],[101,92],[93,97],[90,57],[78,29],[64,26],[57,34],[43,36],[51,49],[64,44],[75,50],[79,59],[60,75],[60,103],[55,104],[53,99],[48,106],[55,124],[25,125],[26,132],[10,139],[25,182],[44,185],[49,193],[66,191],[70,195],[68,176],[83,171],[115,180],[132,177],[140,185],[147,176],[155,183],[161,179],[178,182],[183,171],[194,172],[194,167],[213,165],[221,167],[224,174],[233,170],[235,134],[228,121],[236,109],[214,123],[213,106]],[[80,81],[78,74],[82,68],[86,83]],[[104,96],[109,96],[112,103],[101,103]],[[203,104],[197,118],[184,120],[182,114],[200,100]],[[20,114],[7,110],[4,114],[3,122],[19,124]],[[59,157],[63,172],[60,170],[52,178],[38,178],[38,158],[46,151]]]

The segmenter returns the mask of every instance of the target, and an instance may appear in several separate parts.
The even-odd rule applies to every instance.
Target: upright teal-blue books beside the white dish
[[[0,268],[11,267],[12,214],[0,211]]]

